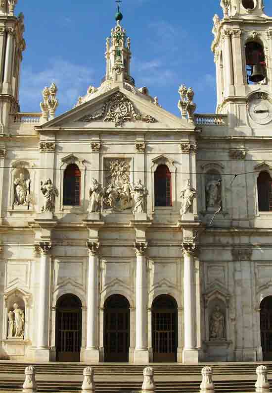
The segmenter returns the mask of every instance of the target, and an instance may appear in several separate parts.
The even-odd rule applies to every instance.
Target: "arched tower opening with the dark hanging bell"
[[[248,83],[258,83],[266,78],[266,59],[264,48],[255,41],[248,42],[246,51],[246,72]]]

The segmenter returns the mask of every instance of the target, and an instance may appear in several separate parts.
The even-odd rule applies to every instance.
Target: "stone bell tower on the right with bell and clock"
[[[216,112],[229,113],[233,126],[255,128],[272,116],[272,17],[263,0],[221,0],[221,6],[223,19],[216,14],[212,30]]]

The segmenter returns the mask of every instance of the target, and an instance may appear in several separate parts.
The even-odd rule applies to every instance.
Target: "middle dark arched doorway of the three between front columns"
[[[104,304],[105,362],[128,362],[130,304],[125,296],[112,295]]]

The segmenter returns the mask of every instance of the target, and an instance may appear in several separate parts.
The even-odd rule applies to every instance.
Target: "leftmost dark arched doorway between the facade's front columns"
[[[82,334],[82,303],[73,294],[61,296],[56,304],[56,360],[79,362]]]

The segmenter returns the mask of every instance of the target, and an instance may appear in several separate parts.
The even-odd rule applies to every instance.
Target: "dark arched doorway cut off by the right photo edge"
[[[260,309],[263,360],[272,360],[272,296],[261,301]]]

